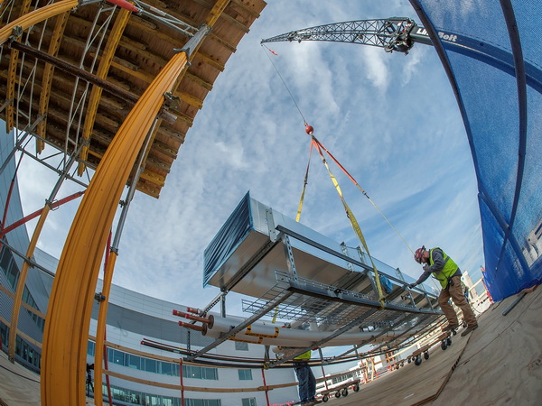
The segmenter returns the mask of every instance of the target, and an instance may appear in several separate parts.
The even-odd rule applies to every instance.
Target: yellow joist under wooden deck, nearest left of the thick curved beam
[[[126,10],[126,8],[121,8],[120,12],[118,12],[117,20],[115,20],[115,24],[109,33],[107,44],[102,53],[101,60],[99,61],[98,70],[96,72],[96,76],[98,76],[98,78],[107,77],[107,72],[111,67],[111,62],[115,56],[115,51],[117,51],[118,42],[120,42],[120,38],[122,37],[122,33],[126,28],[126,24],[128,23],[131,14],[132,12]],[[96,120],[96,113],[98,112],[98,104],[101,94],[102,88],[94,85],[92,87],[92,91],[90,92],[89,106],[87,107],[87,114],[85,115],[83,133],[81,134],[83,140],[88,140],[92,134],[92,127],[94,126],[94,121]],[[88,157],[89,145],[85,145],[79,153],[79,158],[82,161],[87,161]],[[77,169],[79,176],[81,176],[84,171],[85,164],[83,162],[79,162],[79,167]]]

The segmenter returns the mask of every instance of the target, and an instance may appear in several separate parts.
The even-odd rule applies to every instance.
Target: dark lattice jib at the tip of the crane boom
[[[425,34],[424,34],[425,33]],[[431,44],[425,29],[407,17],[331,23],[286,32],[262,40],[265,42],[326,41],[348,42],[408,53],[414,42]]]

